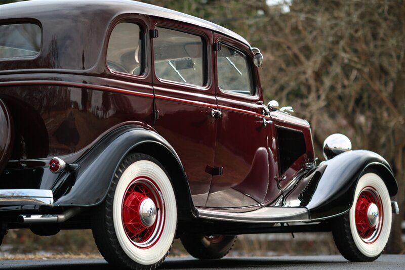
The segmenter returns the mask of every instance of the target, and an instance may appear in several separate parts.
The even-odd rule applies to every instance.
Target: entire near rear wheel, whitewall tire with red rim
[[[130,154],[93,215],[100,253],[118,267],[154,269],[169,254],[176,227],[176,198],[165,168],[151,156]]]

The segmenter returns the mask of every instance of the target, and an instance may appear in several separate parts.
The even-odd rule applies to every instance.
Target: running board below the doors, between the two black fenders
[[[263,207],[244,213],[230,213],[207,208],[198,208],[198,217],[250,223],[279,223],[311,221],[305,207]]]

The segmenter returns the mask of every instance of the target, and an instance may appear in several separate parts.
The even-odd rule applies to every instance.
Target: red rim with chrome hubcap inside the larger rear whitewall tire
[[[145,176],[135,178],[127,187],[121,204],[125,233],[133,245],[147,249],[161,235],[164,208],[160,192]]]

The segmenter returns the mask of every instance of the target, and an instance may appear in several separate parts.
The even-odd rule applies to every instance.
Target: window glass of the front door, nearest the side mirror
[[[245,54],[221,43],[217,52],[218,86],[223,91],[254,95],[252,70]]]

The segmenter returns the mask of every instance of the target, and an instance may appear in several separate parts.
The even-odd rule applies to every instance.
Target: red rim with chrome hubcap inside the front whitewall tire
[[[366,187],[357,198],[355,223],[357,234],[365,243],[374,243],[380,236],[384,212],[378,192]]]

